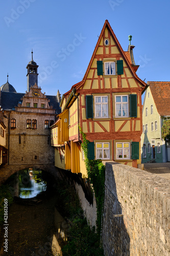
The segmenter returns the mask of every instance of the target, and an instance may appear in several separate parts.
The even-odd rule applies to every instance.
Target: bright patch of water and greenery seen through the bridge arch
[[[33,198],[46,190],[46,182],[42,180],[41,171],[22,170],[18,172],[18,196]]]

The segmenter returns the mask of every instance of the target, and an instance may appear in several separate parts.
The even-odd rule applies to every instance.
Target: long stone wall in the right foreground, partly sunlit
[[[169,255],[170,181],[137,168],[106,163],[105,255]]]

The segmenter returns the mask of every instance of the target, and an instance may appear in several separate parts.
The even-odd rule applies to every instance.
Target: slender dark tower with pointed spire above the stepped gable
[[[32,49],[32,60],[28,63],[26,69],[27,69],[27,92],[30,91],[30,87],[34,86],[36,83],[38,86],[38,65],[37,63],[33,60],[33,49]]]

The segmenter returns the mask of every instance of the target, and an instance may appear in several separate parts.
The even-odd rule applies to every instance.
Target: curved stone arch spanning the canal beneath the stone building
[[[55,179],[59,178],[60,174],[57,167],[54,164],[8,164],[0,168],[0,185],[14,173],[22,169],[35,168],[44,170],[54,176]]]

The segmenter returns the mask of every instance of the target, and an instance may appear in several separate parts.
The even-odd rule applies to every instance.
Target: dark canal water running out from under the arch
[[[55,207],[54,178],[38,170],[26,169],[10,177],[7,183],[14,203],[9,207],[8,253],[1,254],[1,250],[0,254],[62,255],[67,225]]]

